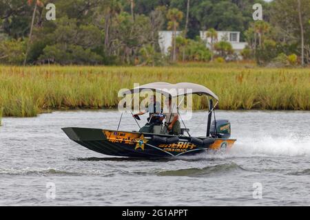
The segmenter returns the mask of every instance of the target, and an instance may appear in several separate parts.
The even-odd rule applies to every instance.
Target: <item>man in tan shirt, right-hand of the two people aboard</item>
[[[178,113],[176,111],[176,104],[172,105],[172,98],[166,98],[165,108],[163,109],[163,115],[165,115],[167,129],[169,134],[179,135],[180,134],[180,121],[178,120]]]

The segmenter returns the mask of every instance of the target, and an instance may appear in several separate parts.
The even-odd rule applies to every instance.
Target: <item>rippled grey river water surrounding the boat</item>
[[[217,111],[237,139],[229,152],[158,161],[101,155],[61,131],[116,129],[119,116],[56,111],[3,118],[0,205],[310,205],[309,111]],[[206,120],[206,113],[194,113],[186,122],[192,135],[205,134]],[[123,116],[120,129],[137,129],[131,115]]]

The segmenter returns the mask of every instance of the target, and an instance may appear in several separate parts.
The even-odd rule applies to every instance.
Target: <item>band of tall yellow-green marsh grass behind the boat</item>
[[[156,81],[205,85],[220,98],[219,109],[310,110],[310,69],[3,66],[0,115],[31,117],[54,109],[115,108],[119,89]],[[194,107],[205,109],[207,102],[195,98]]]

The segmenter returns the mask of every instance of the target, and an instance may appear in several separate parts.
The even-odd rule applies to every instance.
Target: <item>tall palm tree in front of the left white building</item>
[[[178,28],[179,21],[183,19],[183,12],[177,8],[169,9],[167,12],[167,19],[169,20],[168,29],[172,32],[172,61],[176,61],[176,29]]]

